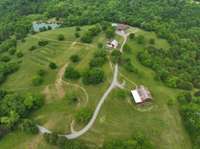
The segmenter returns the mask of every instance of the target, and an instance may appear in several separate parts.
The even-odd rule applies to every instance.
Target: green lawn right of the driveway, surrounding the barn
[[[156,39],[155,46],[158,48],[169,48],[168,43],[158,39],[155,33],[139,30],[136,35],[144,35],[147,43],[150,38]],[[144,49],[144,45],[138,45],[134,40],[129,40],[128,44],[132,51],[131,54],[125,55],[131,57],[139,73],[128,73],[122,67],[120,71],[130,81],[137,85],[145,85],[150,89],[153,95],[152,104],[144,107],[135,105],[130,95],[130,90],[135,86],[126,81],[126,89],[129,92],[127,99],[118,99],[115,92],[112,92],[94,127],[81,138],[88,142],[102,144],[103,141],[112,138],[129,138],[131,135],[142,132],[158,149],[190,149],[191,142],[182,125],[175,101],[180,91],[167,88],[161,82],[155,81],[155,73],[138,62],[137,53]],[[170,99],[175,101],[173,106],[167,105]]]

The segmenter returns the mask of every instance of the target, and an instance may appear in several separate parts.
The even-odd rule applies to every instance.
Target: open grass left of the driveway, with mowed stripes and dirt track
[[[83,34],[89,27],[82,27],[80,34]],[[81,57],[81,62],[76,64],[75,67],[83,72],[88,69],[89,62],[93,57],[95,51],[98,50],[98,43],[106,43],[106,38],[103,33],[95,37],[93,43],[84,44],[81,43],[79,39],[74,36],[75,27],[72,28],[61,28],[57,30],[47,31],[38,33],[35,35],[29,35],[25,42],[19,42],[17,49],[22,51],[24,57],[21,58],[21,67],[19,71],[11,75],[7,81],[3,84],[2,88],[12,91],[19,92],[43,92],[47,86],[51,89],[52,97],[46,99],[45,105],[34,112],[30,118],[35,119],[39,124],[49,128],[50,130],[58,133],[70,133],[70,124],[74,120],[74,114],[82,108],[83,106],[88,106],[92,110],[95,109],[96,104],[104,91],[109,86],[112,79],[112,70],[107,62],[103,70],[105,72],[106,78],[103,84],[97,86],[84,86],[82,82],[68,82],[71,84],[80,85],[84,87],[88,96],[89,101],[86,102],[85,94],[78,88],[70,85],[65,85],[64,89],[66,93],[68,91],[74,90],[80,97],[81,104],[69,105],[65,99],[58,98],[55,93],[55,80],[57,73],[60,68],[66,63],[70,64],[70,56],[73,54],[78,54]],[[64,41],[58,41],[57,36],[63,34],[65,36]],[[122,38],[117,36],[117,39],[122,41]],[[38,47],[34,51],[29,51],[31,46],[37,46],[39,40],[48,40],[48,45],[44,47]],[[58,69],[49,69],[49,63],[55,62],[58,65]],[[35,87],[32,85],[32,79],[36,76],[39,69],[44,69],[46,75],[44,77],[44,83]],[[82,125],[77,125],[77,129],[83,127]],[[17,138],[17,139],[15,139]],[[12,141],[12,140],[16,141]],[[26,135],[22,132],[15,131],[6,136],[0,141],[0,146],[5,149],[10,148],[55,148],[53,146],[47,145],[41,135]]]

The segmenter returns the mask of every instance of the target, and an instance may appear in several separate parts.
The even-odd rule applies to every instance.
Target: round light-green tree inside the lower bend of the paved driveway
[[[92,110],[89,108],[82,108],[75,114],[76,122],[86,124],[92,117]]]

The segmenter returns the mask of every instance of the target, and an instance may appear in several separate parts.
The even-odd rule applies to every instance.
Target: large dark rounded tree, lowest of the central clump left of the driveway
[[[91,68],[83,73],[83,83],[96,85],[104,81],[104,72],[100,68]]]

